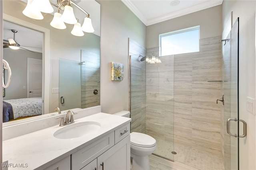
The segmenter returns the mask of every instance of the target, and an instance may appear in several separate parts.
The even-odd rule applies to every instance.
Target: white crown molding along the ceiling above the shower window
[[[180,16],[184,16],[186,14],[190,14],[193,12],[197,12],[200,10],[205,10],[207,8],[211,8],[214,6],[218,6],[220,4],[222,4],[223,0],[209,0],[206,1],[202,4],[198,4],[189,8],[185,8],[183,10],[179,10],[177,12],[172,12],[170,14],[164,15],[164,16],[160,16],[157,18],[153,18],[150,20],[147,20],[146,17],[138,10],[138,8],[136,8],[136,6],[134,6],[134,4],[132,3],[131,0],[121,0],[146,26],[148,25],[153,25],[155,23],[159,23],[162,21],[166,21],[166,20],[170,20],[173,18],[177,18]]]

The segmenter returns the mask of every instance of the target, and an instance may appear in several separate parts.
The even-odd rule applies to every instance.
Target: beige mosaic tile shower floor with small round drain
[[[157,149],[155,154],[164,156],[175,162],[191,166],[199,170],[224,170],[224,166],[220,156],[211,153],[202,152],[197,149],[175,144],[174,151],[177,154],[173,155],[173,143],[156,139]],[[170,162],[171,163],[171,162]],[[154,168],[153,168],[154,170]],[[161,169],[156,169],[161,170]],[[183,169],[180,169],[183,170]],[[184,169],[185,170],[185,169]]]

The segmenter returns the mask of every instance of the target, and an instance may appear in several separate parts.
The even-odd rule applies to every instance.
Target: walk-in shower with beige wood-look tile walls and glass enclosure
[[[237,71],[231,69],[237,64],[228,62],[229,55],[237,53],[237,41],[221,48],[220,40],[200,39],[200,52],[161,56],[159,64],[145,62],[146,56],[159,55],[158,47],[144,49],[130,41],[131,131],[154,137],[154,154],[200,170],[238,168],[238,156],[232,156],[237,145],[232,145],[225,125],[230,107],[237,106],[231,104],[237,95],[230,96],[231,84],[237,84]],[[225,107],[216,104],[224,93]]]

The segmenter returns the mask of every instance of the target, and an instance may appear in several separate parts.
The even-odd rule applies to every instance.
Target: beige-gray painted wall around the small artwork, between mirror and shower
[[[128,38],[146,46],[146,26],[120,1],[99,0],[100,105],[102,112],[128,110]],[[124,80],[111,81],[111,62],[124,64]]]

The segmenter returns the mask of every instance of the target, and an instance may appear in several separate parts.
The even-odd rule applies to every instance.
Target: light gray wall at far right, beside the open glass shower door
[[[255,96],[255,12],[256,1],[224,0],[222,25],[233,12],[232,22],[239,17],[239,119],[247,122],[247,137],[239,139],[240,170],[256,169],[256,117],[246,110],[246,97]],[[242,129],[240,129],[242,133]]]

